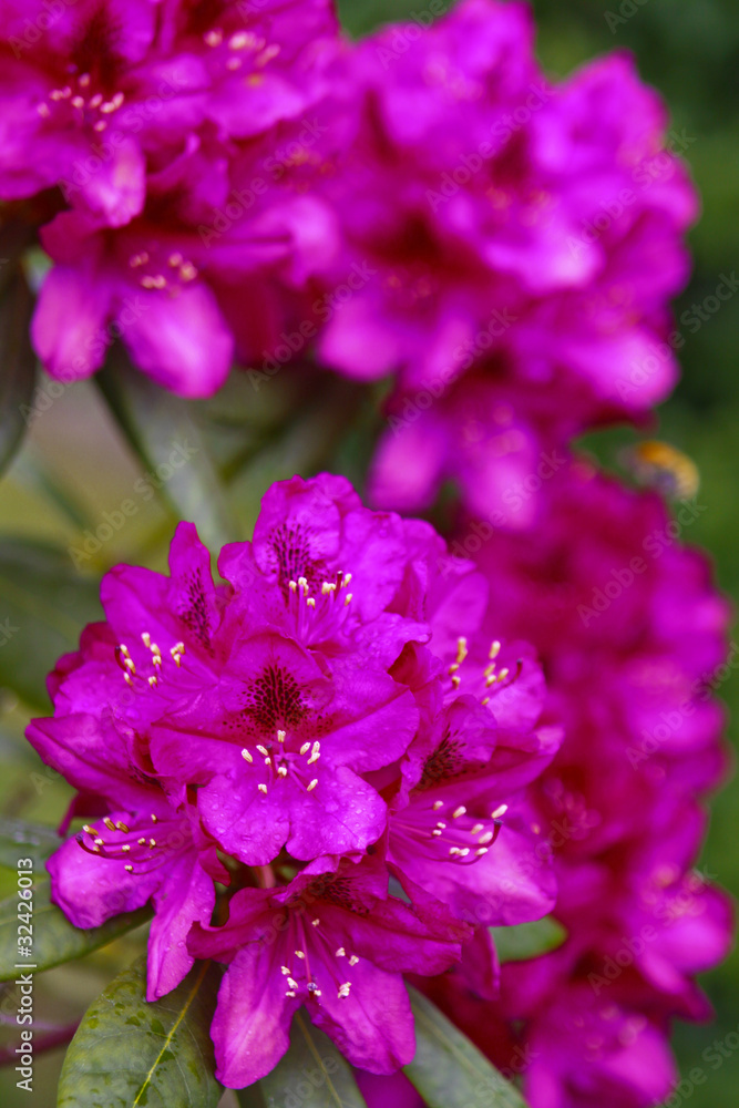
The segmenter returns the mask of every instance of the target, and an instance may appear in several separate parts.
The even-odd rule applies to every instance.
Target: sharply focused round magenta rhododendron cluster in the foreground
[[[191,524],[170,576],[119,566],[29,738],[86,819],[49,862],[80,927],[151,902],[148,997],[193,960],[228,965],[218,1076],[246,1086],[292,1013],[360,1068],[414,1053],[402,974],[554,903],[525,788],[560,742],[532,650],[483,637],[483,578],[425,523],[295,478],[254,541],[209,554]]]

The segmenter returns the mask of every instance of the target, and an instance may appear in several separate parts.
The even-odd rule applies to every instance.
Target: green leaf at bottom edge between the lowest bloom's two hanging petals
[[[289,1050],[259,1087],[266,1108],[283,1108],[290,1094],[300,1108],[367,1108],[351,1067],[304,1009],[292,1020]],[[257,1101],[242,1104],[258,1108]]]

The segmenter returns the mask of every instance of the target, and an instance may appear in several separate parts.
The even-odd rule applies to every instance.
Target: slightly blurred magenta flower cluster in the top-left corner
[[[336,37],[329,0],[81,0],[58,17],[37,0],[4,6],[0,197],[57,186],[49,215],[71,208],[41,234],[57,265],[33,340],[53,376],[88,376],[121,336],[182,396],[223,384],[233,320],[244,329],[234,284],[239,304],[255,271],[289,286],[324,230],[280,181],[294,155],[271,174],[265,160],[284,121],[306,123]],[[281,312],[261,299],[247,326],[257,348],[265,315]]]

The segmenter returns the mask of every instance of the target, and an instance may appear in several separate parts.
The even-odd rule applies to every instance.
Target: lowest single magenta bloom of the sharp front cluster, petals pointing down
[[[197,957],[228,963],[213,1023],[218,1079],[240,1088],[268,1074],[304,1004],[355,1065],[396,1071],[415,1053],[401,973],[443,972],[466,936],[443,912],[389,896],[372,861],[319,859],[285,888],[243,890],[225,926],[189,940]]]

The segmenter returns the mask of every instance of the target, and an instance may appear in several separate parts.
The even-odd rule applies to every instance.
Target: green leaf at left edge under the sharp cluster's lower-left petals
[[[19,854],[17,860],[23,856]],[[37,973],[84,957],[85,954],[112,943],[114,938],[119,938],[120,935],[124,935],[151,917],[151,911],[143,907],[137,912],[116,915],[102,927],[83,931],[73,926],[61,909],[51,903],[50,882],[45,872],[34,876],[30,891],[33,894],[31,897],[33,910],[29,913],[30,925],[33,927],[31,936],[33,955],[28,962],[35,966]],[[25,903],[27,901],[20,900],[17,893],[0,901],[0,981],[12,981],[18,976],[17,965],[27,961],[18,954],[18,926],[21,922],[18,909],[19,904]]]

